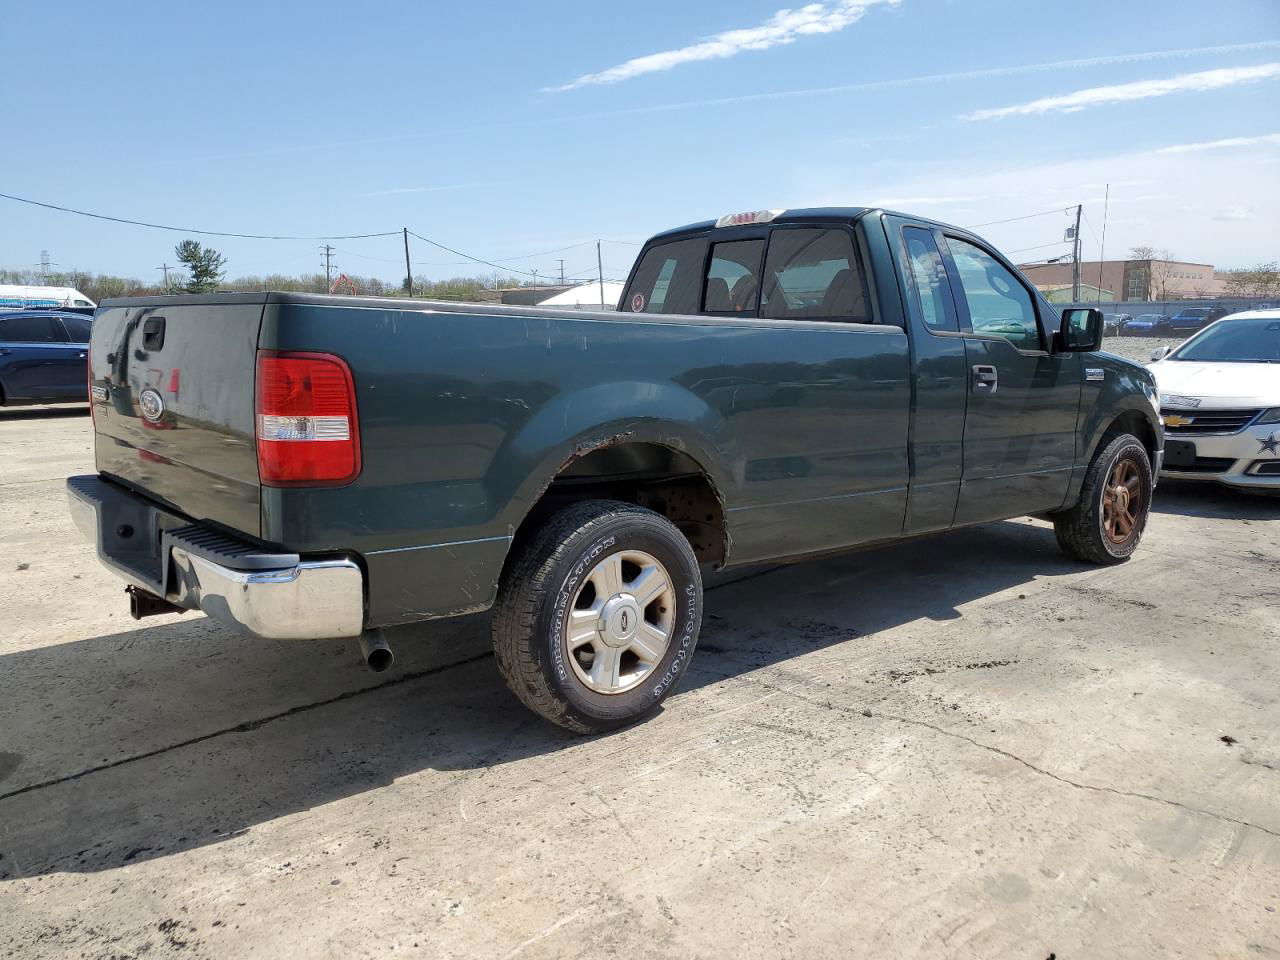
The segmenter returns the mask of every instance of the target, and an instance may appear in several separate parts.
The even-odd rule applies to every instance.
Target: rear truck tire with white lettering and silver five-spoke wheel
[[[653,713],[689,669],[701,626],[703,580],[684,534],[644,507],[584,500],[516,549],[493,620],[512,692],[579,733]]]

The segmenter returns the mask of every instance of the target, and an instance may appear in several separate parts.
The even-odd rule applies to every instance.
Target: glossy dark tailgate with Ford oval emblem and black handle
[[[97,468],[193,520],[261,531],[253,378],[265,296],[161,297],[93,319]]]

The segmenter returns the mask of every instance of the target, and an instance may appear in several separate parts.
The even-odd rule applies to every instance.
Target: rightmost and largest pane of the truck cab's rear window
[[[760,316],[872,323],[867,282],[847,230],[773,230]]]

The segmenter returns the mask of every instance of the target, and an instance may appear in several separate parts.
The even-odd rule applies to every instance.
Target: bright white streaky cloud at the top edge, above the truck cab
[[[794,44],[799,37],[836,33],[860,20],[872,6],[896,6],[899,3],[901,0],[836,0],[836,3],[805,4],[795,10],[778,10],[758,27],[727,29],[689,46],[637,56],[607,70],[584,74],[572,83],[548,87],[543,92],[556,93],[575,87],[620,83],[686,63],[723,60],[748,50],[768,50],[781,44]]]

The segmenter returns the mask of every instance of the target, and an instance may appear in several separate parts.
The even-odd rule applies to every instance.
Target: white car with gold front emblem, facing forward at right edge
[[[1151,356],[1164,475],[1280,490],[1280,310],[1234,314]]]

